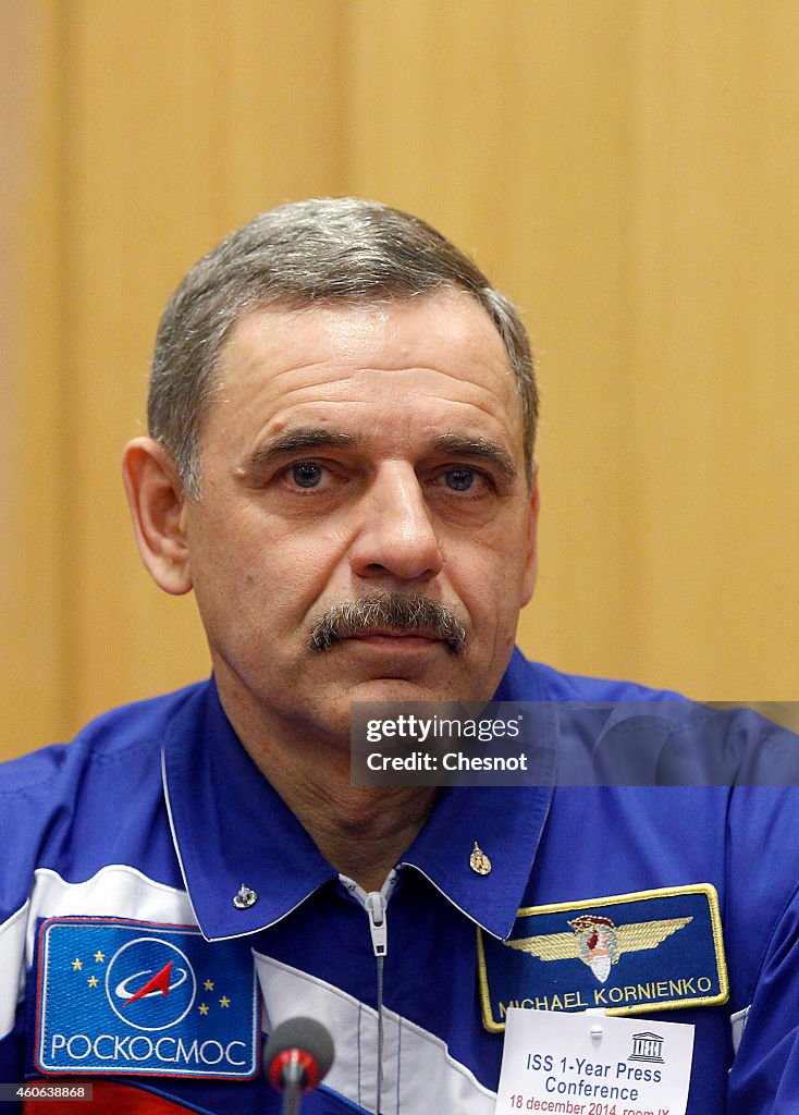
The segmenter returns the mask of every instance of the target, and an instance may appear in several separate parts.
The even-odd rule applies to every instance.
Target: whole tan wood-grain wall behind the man
[[[119,481],[160,309],[256,212],[378,197],[523,307],[520,642],[799,699],[799,4],[0,0],[0,754],[204,676]]]

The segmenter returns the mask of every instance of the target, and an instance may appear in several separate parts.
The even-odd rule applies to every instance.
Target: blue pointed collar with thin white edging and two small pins
[[[525,685],[506,677],[497,700],[544,697],[524,667]],[[539,785],[442,789],[400,861],[499,938],[522,905],[556,780],[557,716],[547,704],[535,708]],[[213,679],[173,720],[163,754],[175,849],[208,940],[265,929],[338,878],[240,743]],[[470,865],[475,844],[490,861],[487,874]],[[244,909],[233,902],[242,885],[256,895]]]

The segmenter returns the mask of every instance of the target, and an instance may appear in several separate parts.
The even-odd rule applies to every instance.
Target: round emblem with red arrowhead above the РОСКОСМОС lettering
[[[114,1014],[137,1030],[166,1030],[185,1018],[197,991],[185,952],[168,941],[139,937],[111,957],[106,996]]]

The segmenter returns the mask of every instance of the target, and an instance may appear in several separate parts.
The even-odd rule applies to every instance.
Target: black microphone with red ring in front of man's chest
[[[283,1115],[298,1115],[300,1097],[312,1092],[333,1063],[333,1039],[313,1018],[288,1018],[264,1050],[270,1084],[283,1093]]]

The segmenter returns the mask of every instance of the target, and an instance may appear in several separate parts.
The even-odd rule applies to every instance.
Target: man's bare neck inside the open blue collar
[[[435,787],[353,786],[349,739],[256,727],[225,711],[245,750],[337,871],[378,891],[432,809]],[[233,715],[231,715],[233,712]]]

